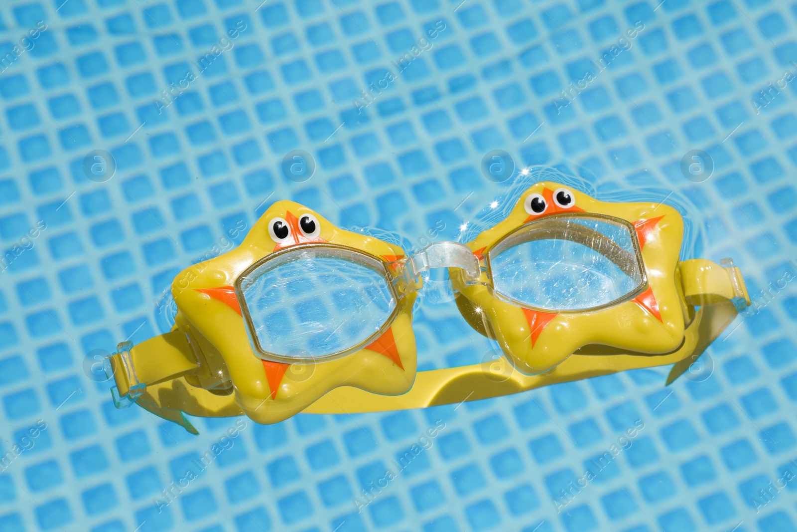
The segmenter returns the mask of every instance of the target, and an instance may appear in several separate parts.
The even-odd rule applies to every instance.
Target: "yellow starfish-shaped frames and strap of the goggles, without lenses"
[[[540,191],[550,196],[556,187],[561,185],[538,183],[527,193]],[[528,223],[528,213],[520,210],[522,202],[523,198],[504,222],[469,242],[477,257],[483,258],[504,234]],[[639,227],[645,233],[639,235],[644,239],[640,247],[649,288],[658,301],[659,319],[637,302],[625,301],[592,313],[559,313],[538,333],[536,341],[530,342],[527,313],[494,298],[486,282],[467,284],[452,270],[459,296],[493,313],[489,317],[492,330],[481,332],[498,333],[507,359],[418,372],[416,376],[411,323],[416,292],[408,289],[401,291],[398,313],[383,337],[355,353],[314,365],[263,361],[253,353],[234,295],[233,285],[241,272],[286,246],[327,242],[362,250],[389,264],[400,262],[404,254],[398,246],[378,238],[340,230],[308,207],[280,201],[265,211],[240,246],[190,266],[175,278],[172,294],[179,312],[172,332],[132,349],[126,346],[111,357],[117,395],[127,396],[147,411],[196,432],[183,413],[245,414],[268,424],[297,412],[423,408],[677,363],[669,383],[727,327],[738,312],[740,298],[743,305],[749,305],[739,270],[704,259],[677,262],[682,223],[671,207],[603,203],[581,193],[576,193],[575,205],[583,206],[579,207],[582,211],[635,221],[634,227],[642,219]],[[645,215],[653,211],[659,217],[657,222],[645,225]],[[553,210],[552,214],[563,213]],[[299,233],[297,220],[303,215],[316,219],[320,225],[316,234]],[[269,223],[275,217],[292,227],[291,242],[277,242],[269,236]],[[400,278],[396,271],[397,282]],[[467,315],[465,318],[469,319]],[[634,330],[618,329],[613,325],[618,320],[634,323]],[[502,337],[502,330],[510,332]],[[618,340],[622,335],[632,340]],[[560,342],[561,338],[567,341]],[[505,366],[497,368],[496,364]]]

